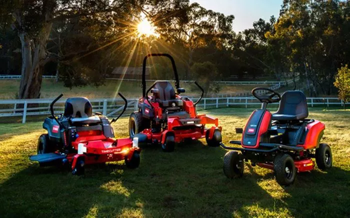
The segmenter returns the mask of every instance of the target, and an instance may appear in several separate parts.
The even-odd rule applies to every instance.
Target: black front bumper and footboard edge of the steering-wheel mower
[[[234,145],[241,145],[240,141],[229,141],[230,144]],[[237,150],[237,151],[251,151],[251,152],[274,152],[277,150],[288,150],[288,151],[302,151],[302,147],[294,147],[294,146],[287,146],[287,145],[281,145],[281,144],[274,144],[274,143],[263,143],[260,142],[261,147],[267,147],[271,148],[269,150],[263,150],[263,149],[252,149],[252,148],[234,148],[234,147],[227,147],[223,143],[220,143],[221,147],[227,150]]]

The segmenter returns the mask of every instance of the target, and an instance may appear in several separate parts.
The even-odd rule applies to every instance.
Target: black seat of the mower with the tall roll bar
[[[182,107],[183,101],[176,98],[175,90],[169,81],[157,80],[154,82],[154,84],[154,88],[158,89],[159,91],[157,94],[157,102],[160,104],[160,107]]]

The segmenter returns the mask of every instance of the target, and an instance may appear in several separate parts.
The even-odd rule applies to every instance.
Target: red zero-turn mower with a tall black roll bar
[[[164,56],[171,60],[175,75],[176,91],[169,81],[158,80],[146,91],[145,67],[147,57]],[[217,147],[221,142],[221,127],[218,119],[207,115],[197,115],[195,105],[203,97],[193,103],[180,94],[185,90],[180,88],[176,66],[169,54],[148,54],[143,59],[142,66],[142,98],[138,101],[138,111],[131,113],[129,118],[129,135],[138,138],[138,142],[160,143],[165,152],[174,150],[175,143],[184,140],[206,139],[208,146]],[[152,96],[148,96],[148,93]],[[214,124],[209,129],[205,124]]]

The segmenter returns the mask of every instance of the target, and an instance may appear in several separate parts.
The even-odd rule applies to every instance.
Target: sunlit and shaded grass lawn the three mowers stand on
[[[219,118],[223,142],[239,139],[248,109],[205,111]],[[201,111],[204,112],[204,111]],[[349,217],[350,112],[314,110],[323,121],[323,142],[333,152],[333,168],[297,175],[280,187],[267,169],[245,165],[244,177],[222,172],[225,150],[205,141],[178,144],[173,153],[144,147],[138,169],[123,163],[87,167],[85,176],[39,168],[28,156],[44,133],[41,122],[0,124],[0,217]],[[127,118],[114,124],[127,137]]]

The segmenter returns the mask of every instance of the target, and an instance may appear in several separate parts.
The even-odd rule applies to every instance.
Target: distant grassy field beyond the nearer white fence
[[[149,87],[152,82],[148,82]],[[194,84],[180,83],[186,89],[186,95],[197,96],[200,94]],[[220,93],[230,94],[234,92],[250,91],[255,86],[223,85]],[[0,80],[0,99],[14,99],[19,88],[19,80]],[[87,98],[112,98],[119,91],[126,97],[139,97],[141,92],[140,82],[106,80],[105,85],[94,87],[73,87],[69,89],[63,86],[62,82],[56,83],[53,79],[43,79],[40,98],[53,98],[63,93],[65,97],[85,96]],[[209,93],[210,94],[210,93]]]

